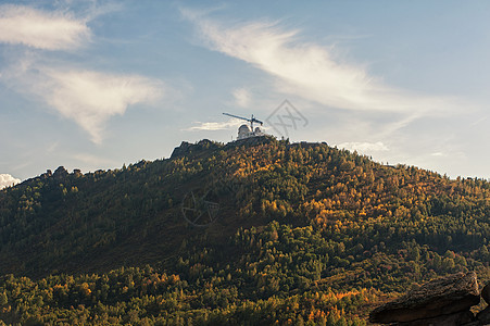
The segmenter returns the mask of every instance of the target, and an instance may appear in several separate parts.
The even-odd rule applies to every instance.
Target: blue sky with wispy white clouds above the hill
[[[244,121],[490,178],[490,2],[0,1],[0,188]]]

